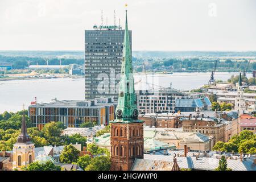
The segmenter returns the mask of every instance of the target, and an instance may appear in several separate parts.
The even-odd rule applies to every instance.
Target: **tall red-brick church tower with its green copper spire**
[[[135,158],[143,159],[143,121],[138,120],[137,97],[134,91],[133,67],[127,24],[123,40],[121,79],[119,82],[116,119],[111,125],[111,170],[129,171]]]

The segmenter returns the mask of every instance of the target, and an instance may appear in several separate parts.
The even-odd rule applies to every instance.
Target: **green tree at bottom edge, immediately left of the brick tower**
[[[109,171],[111,162],[108,156],[97,156],[92,159],[92,162],[85,168],[86,171]]]

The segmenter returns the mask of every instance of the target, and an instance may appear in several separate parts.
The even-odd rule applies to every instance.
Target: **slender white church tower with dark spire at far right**
[[[242,75],[239,75],[239,81],[237,85],[237,96],[235,102],[234,110],[238,111],[238,114],[241,115],[245,113],[246,106],[245,106],[245,98],[243,97],[243,89],[242,89]]]

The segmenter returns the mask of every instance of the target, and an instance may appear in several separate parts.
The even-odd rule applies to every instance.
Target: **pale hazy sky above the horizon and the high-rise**
[[[256,51],[255,0],[0,0],[0,50],[84,50],[125,3],[133,51]]]

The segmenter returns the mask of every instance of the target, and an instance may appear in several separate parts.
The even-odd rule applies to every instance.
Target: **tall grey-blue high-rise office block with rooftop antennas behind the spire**
[[[120,26],[93,28],[85,30],[85,100],[117,100],[125,30]]]

